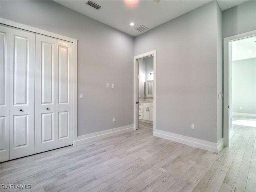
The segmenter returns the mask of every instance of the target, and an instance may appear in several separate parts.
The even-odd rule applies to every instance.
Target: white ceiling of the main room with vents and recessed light
[[[99,10],[87,5],[88,0],[54,0],[72,10],[80,12],[131,36],[137,36],[168,22],[211,0],[92,0],[100,5]],[[246,0],[218,0],[220,8],[226,10]],[[133,22],[134,26],[130,26]],[[140,25],[148,29],[140,32]]]

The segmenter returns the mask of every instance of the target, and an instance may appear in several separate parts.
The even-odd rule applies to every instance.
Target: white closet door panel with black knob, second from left
[[[35,153],[35,34],[11,28],[10,159]]]

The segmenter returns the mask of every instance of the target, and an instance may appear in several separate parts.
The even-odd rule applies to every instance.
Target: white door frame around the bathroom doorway
[[[153,66],[154,66],[154,100],[153,100],[153,132],[156,130],[156,50],[146,52],[137,56],[134,56],[134,130],[138,129],[138,60],[141,58],[153,56]]]

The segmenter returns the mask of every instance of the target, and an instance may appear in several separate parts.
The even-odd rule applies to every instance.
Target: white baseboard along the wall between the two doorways
[[[170,133],[170,132],[166,132],[158,129],[156,129],[153,132],[153,135],[160,138],[168,139],[171,141],[175,141],[178,143],[186,144],[192,147],[196,147],[196,148],[200,148],[200,149],[204,149],[204,150],[208,150],[216,153],[220,152],[220,150],[224,145],[223,138],[220,139],[218,143],[214,143],[214,142],[209,142],[209,141],[196,139],[196,138],[192,138],[184,135],[174,134],[174,133]]]

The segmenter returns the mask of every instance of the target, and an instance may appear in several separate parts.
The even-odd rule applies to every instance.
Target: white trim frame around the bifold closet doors
[[[50,36],[53,38],[57,38],[57,39],[61,39],[61,40],[65,40],[68,42],[72,42],[73,43],[73,90],[72,90],[72,95],[73,95],[73,103],[72,103],[72,109],[73,109],[73,124],[72,124],[72,132],[73,132],[73,138],[72,138],[72,143],[74,144],[74,141],[78,140],[78,130],[77,130],[77,40],[70,38],[70,37],[66,37],[60,34],[56,34],[56,33],[52,33],[46,30],[42,30],[42,29],[38,29],[38,28],[34,28],[28,25],[24,25],[24,24],[20,24],[18,22],[14,22],[11,20],[7,20],[4,18],[0,18],[0,23],[4,24],[4,25],[8,25],[8,26],[12,26],[15,28],[20,28],[23,30],[27,30],[30,32],[34,32],[34,33],[38,33],[38,34],[42,34],[42,35],[46,35],[46,36]]]

